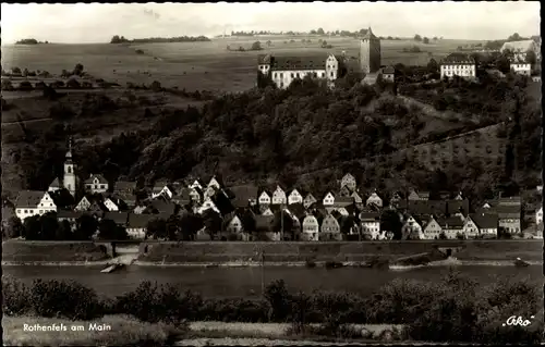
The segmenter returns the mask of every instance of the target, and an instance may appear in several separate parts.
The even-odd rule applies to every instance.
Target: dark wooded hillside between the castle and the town
[[[511,106],[507,92],[520,85],[517,78],[506,94],[484,100]],[[109,179],[148,183],[216,172],[228,184],[280,182],[320,193],[351,171],[364,189],[461,188],[475,200],[494,194],[500,184],[535,183],[541,168],[535,150],[540,104],[526,92],[530,85],[518,91],[528,98],[522,109],[505,106],[497,122],[506,124],[492,126],[480,124],[480,115],[443,120],[441,112],[424,111],[383,87],[354,86],[347,78],[335,91],[303,80],[288,90],[226,95],[203,109],[165,110],[152,128],[105,144],[80,140],[75,156],[83,176],[104,172]],[[433,141],[431,122],[436,127]],[[507,150],[509,144],[513,146]],[[15,149],[11,158],[17,158],[21,173],[31,174],[26,187],[46,188],[53,177],[51,168],[60,170],[64,148],[41,142],[31,152],[32,146]]]

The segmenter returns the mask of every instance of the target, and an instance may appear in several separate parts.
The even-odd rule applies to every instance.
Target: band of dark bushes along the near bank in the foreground
[[[35,281],[26,287],[2,282],[8,315],[93,320],[130,314],[143,322],[183,326],[186,321],[290,323],[292,334],[360,335],[352,324],[404,324],[414,340],[535,343],[543,333],[543,300],[525,282],[499,281],[485,287],[457,273],[439,283],[393,281],[375,295],[289,293],[283,281],[269,284],[263,299],[208,299],[172,285],[144,282],[117,298],[99,298],[77,283]],[[511,315],[534,315],[531,325],[501,326]],[[319,323],[318,327],[312,323]]]

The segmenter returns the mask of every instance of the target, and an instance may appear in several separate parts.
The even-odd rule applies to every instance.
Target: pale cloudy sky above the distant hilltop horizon
[[[358,30],[450,39],[540,34],[540,2],[255,2],[1,4],[2,44],[109,42],[126,38],[215,36],[223,30]]]

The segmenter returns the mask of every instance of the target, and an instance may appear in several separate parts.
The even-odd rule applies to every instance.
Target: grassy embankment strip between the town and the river
[[[2,265],[100,265],[112,261],[107,247],[93,241],[2,243]],[[446,258],[447,252],[462,264],[504,263],[521,258],[543,261],[542,240],[433,240],[433,241],[353,241],[353,243],[141,243],[133,244],[135,265],[172,267],[303,267],[327,262],[347,267],[370,263],[419,265]],[[121,247],[118,247],[121,248]],[[419,256],[426,255],[421,260]],[[428,257],[432,255],[433,257]],[[416,259],[416,263],[400,259]]]

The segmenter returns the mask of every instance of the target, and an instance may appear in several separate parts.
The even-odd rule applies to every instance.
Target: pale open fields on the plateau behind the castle
[[[290,40],[294,40],[290,42]],[[311,44],[303,44],[310,39]],[[318,37],[244,37],[215,39],[208,42],[144,44],[144,45],[36,45],[2,47],[2,67],[13,66],[48,71],[60,74],[82,63],[86,72],[95,77],[125,84],[149,84],[159,80],[165,86],[178,86],[187,90],[242,91],[255,84],[256,58],[258,54],[278,55],[326,55],[346,51],[358,57],[359,41],[352,38],[323,37],[331,49],[320,48]],[[256,40],[262,51],[228,51],[227,46],[245,49]],[[267,40],[271,46],[265,45]],[[477,41],[471,41],[473,44]],[[438,40],[429,45],[411,40],[383,40],[382,64],[403,63],[425,65],[429,59],[441,59],[464,40]],[[405,53],[403,48],[419,46],[421,53]],[[137,54],[141,49],[144,54]]]

